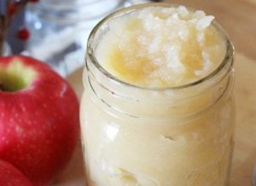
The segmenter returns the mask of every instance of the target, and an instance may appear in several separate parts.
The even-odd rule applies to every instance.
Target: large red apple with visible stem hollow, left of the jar
[[[0,158],[36,186],[48,185],[67,166],[79,136],[73,89],[45,63],[0,58]]]

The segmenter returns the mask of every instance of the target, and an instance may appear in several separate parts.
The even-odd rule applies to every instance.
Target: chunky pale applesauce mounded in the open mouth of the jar
[[[189,84],[211,73],[225,43],[203,11],[145,8],[109,22],[96,58],[113,76],[144,87]]]

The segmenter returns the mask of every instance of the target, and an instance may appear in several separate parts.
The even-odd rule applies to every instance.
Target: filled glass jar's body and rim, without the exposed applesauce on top
[[[216,21],[212,25],[226,41],[224,60],[191,84],[138,87],[96,60],[109,20],[154,5],[119,10],[90,34],[80,108],[87,185],[226,186],[235,124],[234,51]]]

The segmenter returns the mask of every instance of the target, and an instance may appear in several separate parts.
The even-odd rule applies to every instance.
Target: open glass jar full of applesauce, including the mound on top
[[[81,140],[88,186],[226,186],[233,47],[202,11],[151,3],[91,32]]]

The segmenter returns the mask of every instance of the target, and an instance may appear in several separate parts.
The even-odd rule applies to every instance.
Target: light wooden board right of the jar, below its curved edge
[[[256,164],[256,61],[236,55],[236,145],[231,186],[250,186]]]

